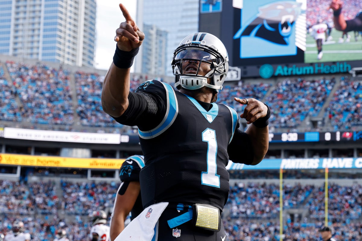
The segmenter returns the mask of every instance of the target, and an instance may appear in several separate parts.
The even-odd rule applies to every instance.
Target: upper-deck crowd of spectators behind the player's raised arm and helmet
[[[101,111],[100,96],[104,76],[45,64],[29,65],[13,61],[0,63],[1,111],[0,120],[26,120],[37,129],[37,124],[66,126],[72,130],[77,120],[84,131],[87,127],[113,128],[114,132],[136,134]],[[6,68],[6,71],[4,70]],[[9,73],[9,76],[5,74]],[[131,90],[144,82],[147,76],[132,75]],[[75,87],[72,87],[75,86]],[[75,88],[75,90],[74,90]],[[230,82],[218,95],[218,102],[243,111],[230,96],[257,98],[273,106],[270,132],[275,130],[309,131],[313,126],[303,122],[307,117],[323,117],[323,124],[334,130],[361,129],[362,87],[360,81],[348,76],[336,79],[325,76],[315,79],[285,78],[270,82]],[[245,124],[246,127],[246,124]],[[38,127],[39,128],[39,127]],[[302,129],[304,128],[304,129]],[[280,132],[280,131],[279,131]]]

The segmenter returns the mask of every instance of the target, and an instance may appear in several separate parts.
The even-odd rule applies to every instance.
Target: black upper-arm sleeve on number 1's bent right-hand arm
[[[227,151],[232,162],[250,165],[254,160],[250,137],[239,129],[236,129]]]

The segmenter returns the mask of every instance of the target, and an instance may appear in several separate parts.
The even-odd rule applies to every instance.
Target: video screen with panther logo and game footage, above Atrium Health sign
[[[228,6],[231,2],[232,7]],[[222,3],[220,38],[226,43],[232,66],[362,60],[362,33],[334,29],[331,0]],[[360,9],[361,1],[343,1],[346,19],[354,18]],[[323,55],[316,41],[321,32]]]

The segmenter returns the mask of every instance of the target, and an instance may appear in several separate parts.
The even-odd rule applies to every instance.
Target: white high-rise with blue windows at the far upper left
[[[93,67],[95,0],[1,0],[0,54]]]

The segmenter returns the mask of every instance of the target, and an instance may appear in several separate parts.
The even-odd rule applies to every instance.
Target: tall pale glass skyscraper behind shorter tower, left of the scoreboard
[[[198,32],[199,0],[138,0],[136,23],[143,31],[143,24],[155,25],[167,31],[165,74],[172,76],[171,61],[174,50],[187,35]],[[146,38],[150,36],[146,35]],[[144,50],[135,59],[135,72],[141,72]],[[142,56],[142,57],[141,57]]]

